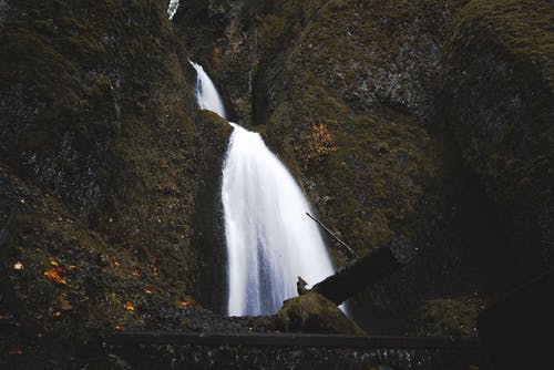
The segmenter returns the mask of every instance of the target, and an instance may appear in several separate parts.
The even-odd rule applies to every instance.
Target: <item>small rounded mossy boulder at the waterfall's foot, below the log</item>
[[[314,291],[286,300],[276,322],[287,332],[366,333],[334,302]]]

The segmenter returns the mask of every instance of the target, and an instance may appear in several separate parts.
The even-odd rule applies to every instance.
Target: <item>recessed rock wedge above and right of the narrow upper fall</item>
[[[253,80],[259,54],[252,1],[185,1],[174,24],[188,55],[216,82],[230,121],[252,123]]]

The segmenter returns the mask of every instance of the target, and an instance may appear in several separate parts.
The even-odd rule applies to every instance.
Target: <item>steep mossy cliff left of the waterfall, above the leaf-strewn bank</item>
[[[148,0],[13,3],[0,33],[0,151],[103,241],[192,288],[196,197],[213,175],[199,167],[219,163],[225,145],[204,150],[218,136],[199,134],[165,10]]]

